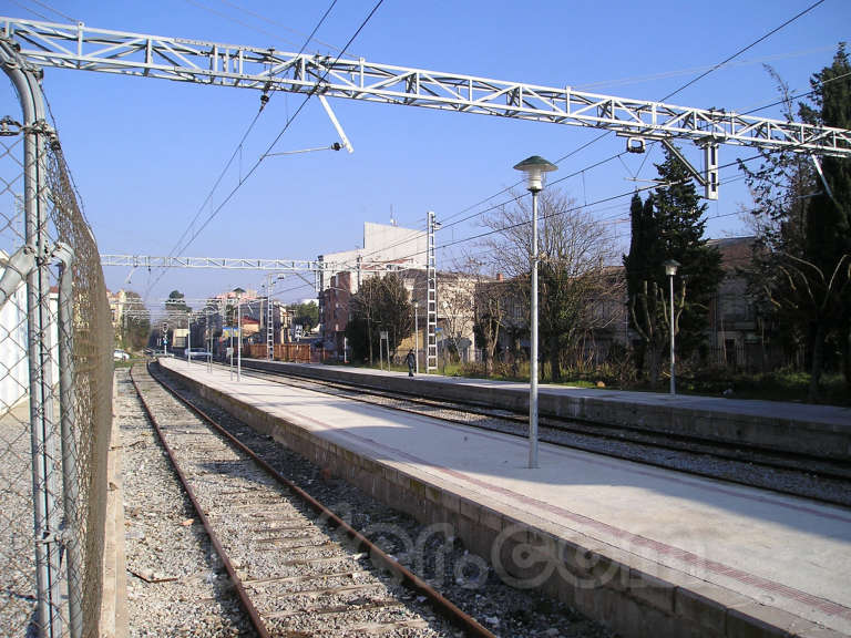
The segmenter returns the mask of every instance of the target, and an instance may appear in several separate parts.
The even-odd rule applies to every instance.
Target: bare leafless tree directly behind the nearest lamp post
[[[607,285],[607,265],[614,261],[615,250],[602,224],[557,188],[539,195],[539,210],[541,353],[550,361],[552,380],[560,381],[563,359],[573,356],[575,360],[584,337],[612,320],[594,310],[603,298],[617,295]],[[516,279],[527,302],[531,219],[531,202],[521,197],[515,206],[485,219],[485,225],[496,231],[485,240],[494,269]]]

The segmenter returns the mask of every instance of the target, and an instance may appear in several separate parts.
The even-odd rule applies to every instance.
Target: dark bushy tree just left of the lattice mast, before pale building
[[[387,332],[390,354],[413,330],[413,306],[402,278],[396,272],[370,277],[351,297],[351,319],[346,337],[356,358],[369,356],[372,364],[381,332]]]

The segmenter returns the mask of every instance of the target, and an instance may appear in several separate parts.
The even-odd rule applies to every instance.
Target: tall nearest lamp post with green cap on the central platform
[[[544,174],[558,167],[540,155],[526,157],[515,165],[526,175],[526,188],[532,193],[532,317],[530,319],[529,360],[529,466],[537,467],[537,194],[544,187]]]

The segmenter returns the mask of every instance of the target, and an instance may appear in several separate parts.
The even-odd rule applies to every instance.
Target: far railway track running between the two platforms
[[[246,361],[243,362],[243,373],[472,428],[516,436],[527,434],[527,416],[506,410],[385,390],[368,389],[365,392],[363,388],[351,384],[250,369],[250,362]],[[644,429],[615,428],[589,421],[541,418],[539,428],[540,440],[555,445],[722,478],[832,505],[851,506],[851,466],[848,464],[765,449],[748,450],[694,436],[654,434]]]

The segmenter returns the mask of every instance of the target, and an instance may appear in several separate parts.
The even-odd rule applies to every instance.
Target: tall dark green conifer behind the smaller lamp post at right
[[[704,238],[706,204],[699,203],[688,169],[669,151],[656,168],[660,184],[653,195],[644,203],[637,195],[633,198],[633,237],[629,255],[624,257],[632,327],[642,336],[645,368],[654,387],[670,330],[679,335],[678,351],[684,358],[705,342],[709,303],[724,276],[720,254]],[[667,259],[680,264],[674,326],[665,295]]]

